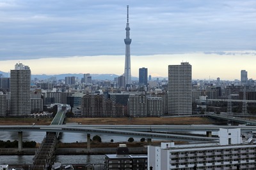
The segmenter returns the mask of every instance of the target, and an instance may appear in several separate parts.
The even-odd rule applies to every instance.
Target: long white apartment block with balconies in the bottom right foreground
[[[167,169],[256,169],[256,145],[241,142],[240,129],[220,129],[220,143],[148,146],[148,167]]]

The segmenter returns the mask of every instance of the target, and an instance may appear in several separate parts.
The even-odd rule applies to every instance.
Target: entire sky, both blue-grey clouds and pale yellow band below
[[[153,77],[167,77],[168,65],[188,61],[193,79],[239,80],[242,69],[255,79],[256,2],[250,0],[2,1],[0,71],[20,61],[32,74],[123,74],[127,4],[132,76],[148,67]]]

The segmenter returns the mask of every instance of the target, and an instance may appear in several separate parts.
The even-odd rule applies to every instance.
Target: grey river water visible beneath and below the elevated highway
[[[191,132],[194,134],[205,134],[205,132]],[[215,134],[215,133],[214,133]],[[93,138],[95,134],[91,134]],[[129,137],[124,136],[109,136],[107,134],[99,135],[102,142],[127,141]],[[45,137],[45,132],[23,132],[23,141],[36,141],[41,143]],[[61,134],[60,141],[62,143],[86,142],[87,134],[65,132]],[[0,132],[0,139],[3,141],[18,140],[17,132]],[[140,138],[134,138],[135,141],[140,141]],[[1,155],[0,164],[33,164],[34,155]],[[62,164],[103,164],[105,155],[56,155],[55,162]]]

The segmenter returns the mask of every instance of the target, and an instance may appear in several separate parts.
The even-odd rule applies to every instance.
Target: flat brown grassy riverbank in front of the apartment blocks
[[[0,125],[50,125],[52,118],[0,118]],[[191,125],[215,124],[207,117],[65,118],[65,123],[83,125]]]

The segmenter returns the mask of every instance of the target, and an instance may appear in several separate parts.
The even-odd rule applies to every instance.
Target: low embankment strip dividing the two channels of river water
[[[0,155],[35,155],[36,148],[24,148],[18,151],[18,148],[1,148]],[[116,148],[57,148],[55,155],[102,155],[116,153]],[[147,154],[146,147],[129,148],[130,154]]]

